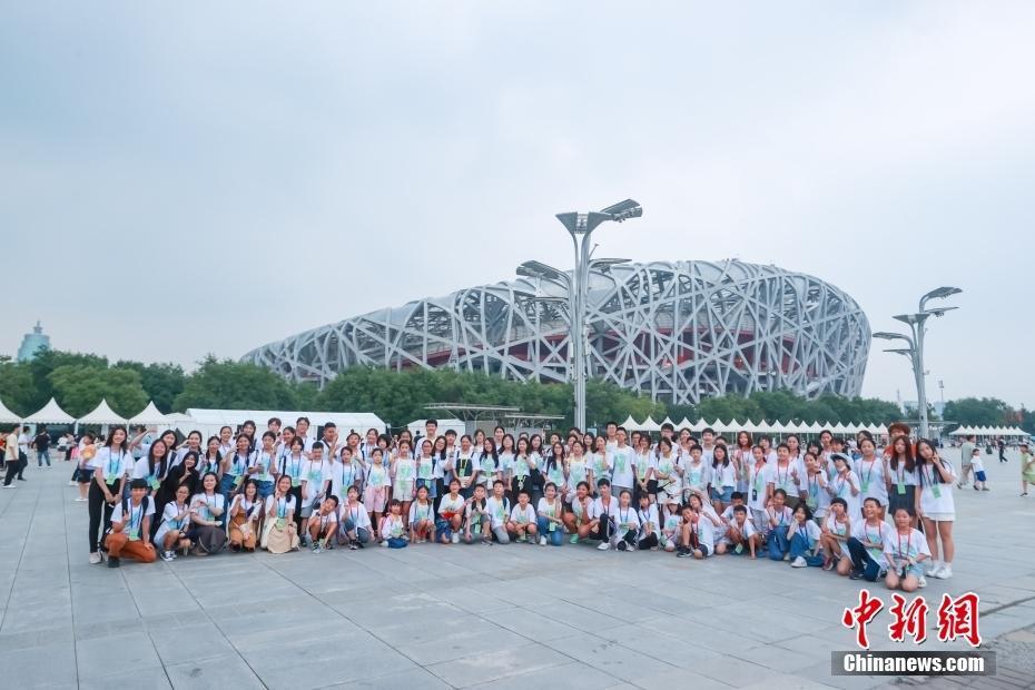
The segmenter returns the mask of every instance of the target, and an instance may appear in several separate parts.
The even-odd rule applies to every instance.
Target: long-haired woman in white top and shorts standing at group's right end
[[[953,556],[956,555],[956,544],[953,541],[953,522],[956,520],[953,483],[956,481],[956,473],[952,463],[942,460],[934,444],[927,438],[916,442],[916,453],[917,477],[920,482],[920,518],[924,519],[927,555],[933,561],[927,574],[948,580],[953,576]],[[939,538],[942,559],[938,558]]]

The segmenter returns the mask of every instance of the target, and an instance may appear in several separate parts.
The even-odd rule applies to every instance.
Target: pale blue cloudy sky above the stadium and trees
[[[874,331],[954,285],[929,398],[1035,405],[1035,3],[8,2],[0,353],[237,358],[572,265],[772,263]],[[862,393],[915,400],[875,343]]]

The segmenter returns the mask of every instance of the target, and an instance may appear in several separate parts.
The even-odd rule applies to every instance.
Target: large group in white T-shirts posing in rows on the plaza
[[[905,424],[883,447],[860,432],[850,451],[828,431],[773,445],[671,425],[653,440],[613,423],[599,436],[515,438],[497,426],[457,437],[434,420],[417,438],[308,432],[302,417],[269,420],[262,433],[226,426],[204,442],[121,426],[103,442],[87,435],[77,479],[89,486],[90,561],[103,550],[114,568],[227,548],[591,542],[786,560],[906,591],[952,576],[957,475]]]

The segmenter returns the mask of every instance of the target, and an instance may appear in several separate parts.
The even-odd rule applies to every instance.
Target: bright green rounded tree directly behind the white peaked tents
[[[122,416],[135,415],[147,405],[140,375],[130,369],[65,364],[49,378],[59,404],[73,417],[90,412],[102,398]]]

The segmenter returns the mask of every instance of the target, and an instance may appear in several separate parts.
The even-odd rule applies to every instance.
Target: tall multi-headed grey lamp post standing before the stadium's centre
[[[571,314],[572,372],[574,374],[575,426],[585,431],[585,304],[589,289],[591,265],[609,266],[624,263],[625,259],[599,259],[590,262],[590,236],[600,224],[607,220],[623,223],[629,218],[639,218],[643,208],[632,199],[625,199],[599,211],[588,214],[558,214],[558,220],[571,235],[575,248],[575,268],[569,276],[562,270],[540,262],[525,262],[518,269],[518,275],[545,278],[558,282],[568,288],[568,309]]]

